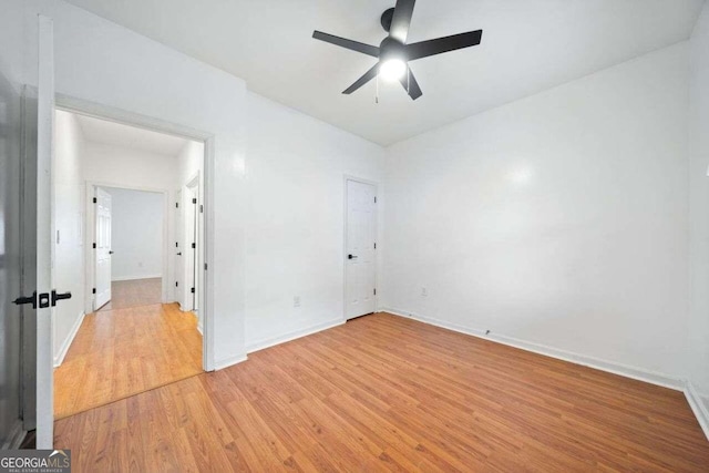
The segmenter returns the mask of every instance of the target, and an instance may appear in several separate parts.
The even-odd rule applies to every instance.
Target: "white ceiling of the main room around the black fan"
[[[247,81],[248,89],[382,145],[689,38],[703,0],[419,0],[409,42],[483,29],[480,47],[412,63],[423,96],[374,81],[373,58],[311,39],[378,45],[394,0],[69,0]]]

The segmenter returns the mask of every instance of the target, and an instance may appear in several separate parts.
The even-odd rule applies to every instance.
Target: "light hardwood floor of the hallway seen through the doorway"
[[[176,304],[84,317],[54,370],[54,417],[65,418],[203,372],[202,336]]]

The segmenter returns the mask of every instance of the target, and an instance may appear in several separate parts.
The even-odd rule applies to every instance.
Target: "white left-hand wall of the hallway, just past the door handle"
[[[61,137],[61,138],[58,138]],[[54,122],[54,287],[71,291],[53,309],[54,364],[59,364],[81,323],[84,309],[84,183],[85,146],[76,117],[56,111]]]

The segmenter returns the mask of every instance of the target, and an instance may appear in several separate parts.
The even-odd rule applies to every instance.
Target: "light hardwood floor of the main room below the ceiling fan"
[[[55,423],[75,472],[693,471],[681,392],[378,313]]]

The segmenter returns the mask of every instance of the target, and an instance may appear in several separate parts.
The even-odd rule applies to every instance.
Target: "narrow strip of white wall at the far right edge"
[[[691,299],[689,379],[706,405],[709,429],[709,4],[690,41],[689,187]],[[707,431],[709,435],[709,430]]]

